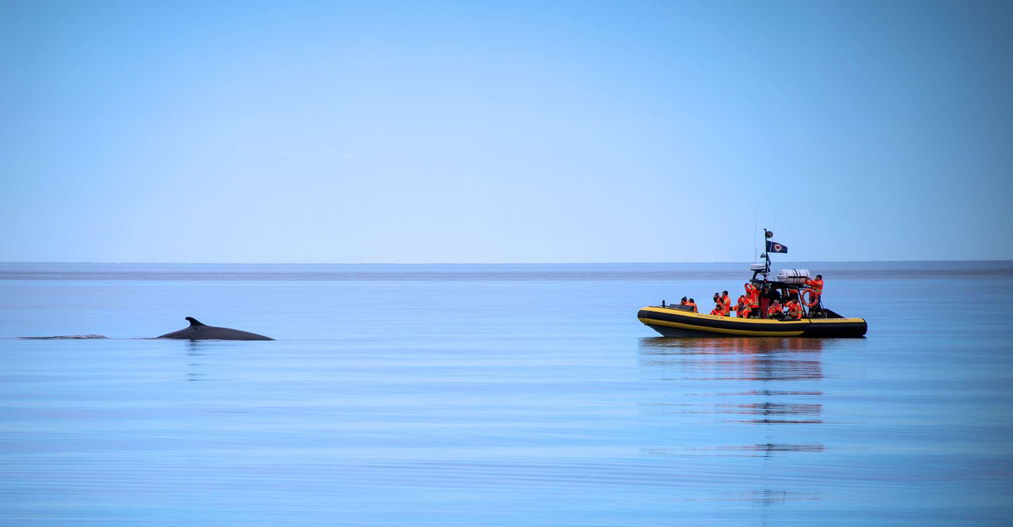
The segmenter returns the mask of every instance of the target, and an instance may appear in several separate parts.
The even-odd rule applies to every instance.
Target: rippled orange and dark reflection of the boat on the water
[[[721,466],[735,460],[741,492],[694,500],[765,507],[822,500],[800,481],[806,460],[825,455],[821,356],[836,346],[821,338],[640,338],[645,380],[663,387],[639,402],[648,430],[663,431],[645,435],[640,453],[701,463],[720,458]]]

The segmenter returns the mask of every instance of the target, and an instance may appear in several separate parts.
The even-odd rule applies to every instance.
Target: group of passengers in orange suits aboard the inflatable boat
[[[800,320],[802,318],[802,297],[808,294],[805,305],[810,309],[820,305],[820,297],[823,295],[823,275],[816,275],[814,280],[805,280],[805,287],[801,291],[797,288],[784,288],[782,294],[780,289],[771,287],[771,284],[763,284],[757,287],[754,284],[746,283],[746,294],[738,296],[735,305],[731,305],[731,297],[727,291],[720,294],[714,293],[714,309],[710,314],[716,316],[731,316],[731,311],[735,312],[738,318],[770,318],[774,320]],[[761,298],[765,299],[767,306],[767,316],[761,314]],[[781,300],[784,303],[781,303]],[[683,297],[680,305],[690,307],[694,313],[698,313],[696,302],[690,298]]]

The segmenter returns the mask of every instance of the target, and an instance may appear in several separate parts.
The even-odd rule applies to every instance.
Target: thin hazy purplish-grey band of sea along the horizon
[[[940,276],[1011,276],[1013,261],[785,261],[779,269],[835,281]],[[0,281],[672,281],[752,277],[748,262],[699,264],[0,264]]]

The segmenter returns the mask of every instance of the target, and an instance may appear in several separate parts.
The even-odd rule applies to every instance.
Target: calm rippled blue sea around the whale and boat
[[[636,320],[747,265],[0,264],[0,524],[1013,523],[1013,262],[798,267],[866,338]]]

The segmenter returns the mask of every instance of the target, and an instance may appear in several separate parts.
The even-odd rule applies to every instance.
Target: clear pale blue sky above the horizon
[[[1013,259],[1013,2],[0,0],[0,260]]]

